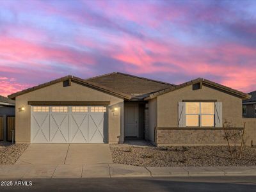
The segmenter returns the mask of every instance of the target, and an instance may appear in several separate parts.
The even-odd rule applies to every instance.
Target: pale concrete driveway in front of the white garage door
[[[31,144],[15,164],[113,163],[108,144]]]

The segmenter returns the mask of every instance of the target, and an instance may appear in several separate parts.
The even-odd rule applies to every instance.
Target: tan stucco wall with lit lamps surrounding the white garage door
[[[28,105],[28,101],[110,101],[109,143],[124,141],[124,99],[74,82],[71,86],[63,87],[61,82],[16,97],[15,140],[17,143],[30,143],[31,106]],[[24,107],[25,111],[19,111],[21,107]],[[114,108],[118,108],[115,116]]]

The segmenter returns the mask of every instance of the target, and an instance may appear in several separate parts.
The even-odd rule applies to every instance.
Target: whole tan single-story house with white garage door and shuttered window
[[[66,76],[8,97],[16,100],[17,143],[212,145],[227,143],[225,120],[242,127],[250,95],[202,78],[175,85],[114,72]]]

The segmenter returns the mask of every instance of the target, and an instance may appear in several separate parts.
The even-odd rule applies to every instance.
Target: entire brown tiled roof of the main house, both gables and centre
[[[227,86],[223,86],[221,84],[214,83],[212,81],[209,81],[207,79],[202,79],[202,78],[198,78],[192,81],[188,81],[187,83],[182,83],[175,86],[174,84],[164,83],[161,81],[154,81],[152,79],[131,76],[129,74],[122,74],[120,72],[114,72],[111,74],[92,77],[90,79],[85,79],[85,80],[75,76],[61,77],[60,79],[56,79],[48,83],[40,84],[38,86],[34,86],[32,88],[22,90],[21,92],[13,93],[12,95],[8,95],[8,98],[9,98],[8,100],[10,102],[15,102],[11,99],[15,99],[15,97],[19,95],[33,92],[35,90],[44,88],[51,84],[60,83],[67,80],[75,81],[77,83],[84,84],[85,86],[90,86],[97,90],[111,93],[113,95],[122,97],[127,100],[149,100],[159,95],[162,95],[164,93],[172,92],[174,90],[178,90],[180,88],[184,88],[191,84],[200,83],[200,82],[204,84],[209,84],[220,90],[224,90],[226,92],[232,93],[237,97],[241,97],[242,99],[250,99],[251,97],[251,95],[248,95],[246,93],[239,92]]]

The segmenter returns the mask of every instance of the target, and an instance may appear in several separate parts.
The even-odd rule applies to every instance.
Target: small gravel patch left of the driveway
[[[29,144],[0,142],[0,164],[14,164]]]

